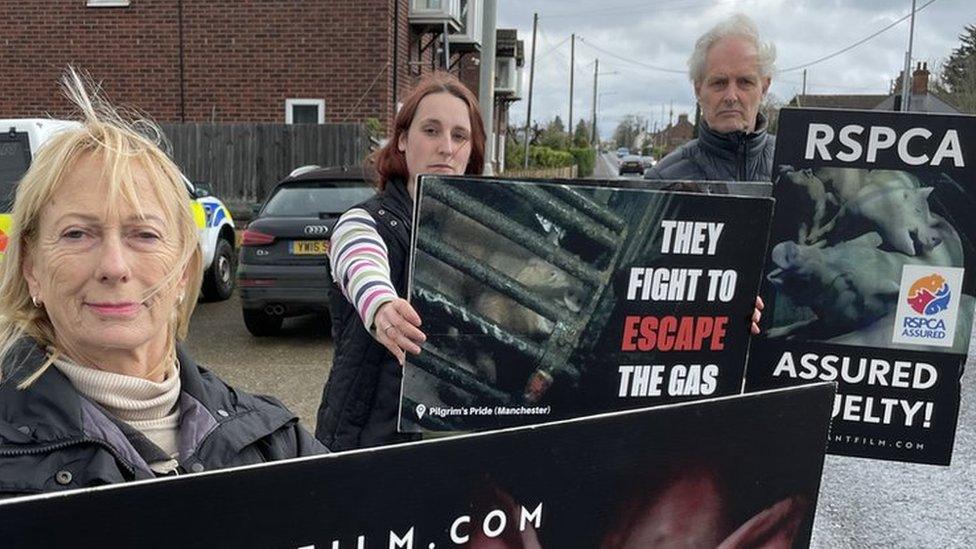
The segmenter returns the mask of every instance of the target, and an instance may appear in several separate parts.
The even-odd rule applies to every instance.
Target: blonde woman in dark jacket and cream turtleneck
[[[82,125],[24,175],[0,265],[0,495],[325,452],[180,348],[202,269],[179,169],[152,125],[65,89]]]

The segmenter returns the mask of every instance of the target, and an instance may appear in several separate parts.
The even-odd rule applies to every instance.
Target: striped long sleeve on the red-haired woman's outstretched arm
[[[333,279],[371,333],[377,309],[397,297],[388,253],[366,210],[353,208],[336,222],[329,253]]]

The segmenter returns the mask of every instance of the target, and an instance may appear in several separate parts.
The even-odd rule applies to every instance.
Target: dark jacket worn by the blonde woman
[[[177,357],[178,473],[328,452],[277,400],[228,387],[182,349]],[[168,456],[75,390],[57,368],[26,389],[16,387],[44,361],[44,351],[25,339],[3,364],[0,497],[156,477],[148,464]]]

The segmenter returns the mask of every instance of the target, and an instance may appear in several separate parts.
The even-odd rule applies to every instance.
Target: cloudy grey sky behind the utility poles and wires
[[[788,101],[802,89],[803,71],[794,67],[868,38],[907,16],[911,6],[911,0],[498,0],[498,27],[516,28],[525,40],[523,100],[513,105],[512,120],[525,123],[534,12],[539,33],[533,120],[569,115],[569,37],[576,33],[573,117],[592,115],[593,61],[599,58],[598,128],[607,138],[627,114],[666,124],[673,103],[675,119],[682,112],[693,115],[685,63],[695,39],[728,15],[749,15],[776,45],[770,91]],[[927,61],[933,69],[959,46],[965,25],[976,24],[976,3],[917,0],[917,7],[913,66]],[[908,34],[905,19],[807,67],[807,93],[887,93],[904,65]]]

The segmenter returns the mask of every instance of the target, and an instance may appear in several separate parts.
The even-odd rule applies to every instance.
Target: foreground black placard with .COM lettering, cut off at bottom
[[[2,545],[805,547],[832,397],[821,383],[8,500]]]

